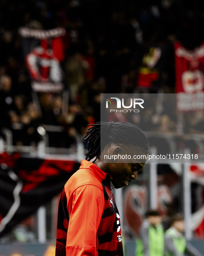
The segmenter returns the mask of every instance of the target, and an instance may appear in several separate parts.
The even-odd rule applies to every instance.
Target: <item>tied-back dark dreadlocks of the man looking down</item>
[[[90,161],[94,157],[98,159],[100,152],[108,143],[134,145],[138,149],[148,151],[149,143],[144,132],[135,124],[126,122],[97,122],[89,124],[91,127],[85,136],[88,143],[86,160]],[[96,159],[93,161],[95,162]]]

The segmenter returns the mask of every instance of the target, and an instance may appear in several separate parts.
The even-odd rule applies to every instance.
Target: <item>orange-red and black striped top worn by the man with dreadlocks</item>
[[[95,164],[81,160],[61,194],[56,256],[123,256],[110,180]]]

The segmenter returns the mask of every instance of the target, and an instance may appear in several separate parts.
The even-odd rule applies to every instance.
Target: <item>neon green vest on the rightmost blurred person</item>
[[[172,236],[173,241],[174,241],[174,245],[175,245],[177,251],[178,251],[179,253],[184,254],[185,248],[186,248],[186,239],[185,239],[185,237],[184,237],[184,236],[178,237],[176,230],[173,229],[173,228],[169,228],[169,229],[166,231],[166,235]],[[168,256],[173,256],[173,254],[170,253],[169,251],[167,251],[166,254],[167,254]]]

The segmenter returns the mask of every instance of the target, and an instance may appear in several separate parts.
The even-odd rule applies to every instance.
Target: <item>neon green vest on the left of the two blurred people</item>
[[[149,226],[149,256],[164,256],[164,230],[161,224],[155,228]],[[135,256],[143,256],[143,243],[141,239],[136,240]]]

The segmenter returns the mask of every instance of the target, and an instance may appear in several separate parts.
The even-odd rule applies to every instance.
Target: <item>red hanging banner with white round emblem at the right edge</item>
[[[204,109],[204,44],[190,51],[175,43],[177,108]]]

